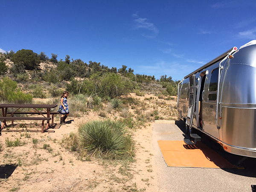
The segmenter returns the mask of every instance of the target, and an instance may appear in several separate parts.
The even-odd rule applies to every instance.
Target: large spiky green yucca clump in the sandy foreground
[[[78,130],[81,146],[98,157],[132,157],[134,144],[125,124],[118,121],[91,121]]]

